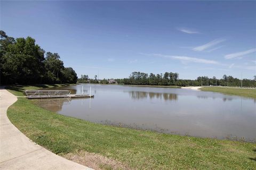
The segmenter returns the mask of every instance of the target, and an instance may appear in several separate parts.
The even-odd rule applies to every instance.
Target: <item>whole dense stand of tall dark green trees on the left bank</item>
[[[76,83],[71,67],[58,53],[47,52],[31,37],[9,37],[0,31],[1,84]]]

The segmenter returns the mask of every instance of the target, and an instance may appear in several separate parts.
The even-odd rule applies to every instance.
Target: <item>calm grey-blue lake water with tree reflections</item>
[[[102,124],[219,139],[256,139],[256,101],[190,89],[81,84],[72,94],[84,99],[36,99],[62,115]]]

